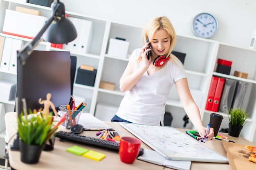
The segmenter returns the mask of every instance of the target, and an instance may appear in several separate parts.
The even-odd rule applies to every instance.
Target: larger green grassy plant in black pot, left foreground
[[[20,117],[17,117],[18,135],[20,137],[20,160],[23,163],[38,163],[45,143],[52,138],[58,126],[65,121],[66,118],[64,115],[61,117],[61,120],[53,126],[52,113],[44,115],[40,111],[40,114],[29,116],[26,109],[23,109],[23,113],[20,114]],[[29,110],[29,113],[33,114],[31,110]]]

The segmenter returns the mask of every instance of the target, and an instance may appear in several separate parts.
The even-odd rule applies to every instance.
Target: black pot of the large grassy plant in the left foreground
[[[45,145],[28,145],[24,144],[22,141],[19,141],[20,145],[20,161],[23,163],[35,164],[38,163],[41,156],[41,152]]]

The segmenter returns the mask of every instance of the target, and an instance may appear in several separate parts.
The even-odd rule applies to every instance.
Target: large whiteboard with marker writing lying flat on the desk
[[[121,126],[157,151],[165,159],[228,163],[228,159],[170,126],[150,126],[119,122]]]

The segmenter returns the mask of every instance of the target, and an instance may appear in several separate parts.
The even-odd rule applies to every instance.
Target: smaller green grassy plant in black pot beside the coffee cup
[[[233,137],[239,137],[243,126],[248,121],[248,115],[244,108],[230,108],[229,114],[229,135]]]

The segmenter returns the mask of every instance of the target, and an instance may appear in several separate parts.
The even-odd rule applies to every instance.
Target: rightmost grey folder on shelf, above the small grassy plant
[[[236,91],[232,102],[232,108],[239,108],[243,106],[243,100],[248,87],[247,82],[238,81],[236,84]],[[245,108],[246,109],[246,108]]]

